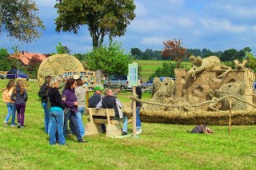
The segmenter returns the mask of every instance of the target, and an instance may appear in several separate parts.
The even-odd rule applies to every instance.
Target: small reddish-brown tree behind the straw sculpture
[[[167,42],[163,42],[165,45],[162,50],[162,56],[173,58],[176,61],[177,68],[180,67],[182,60],[189,56],[187,53],[186,48],[183,48],[182,41],[179,39],[178,41],[174,38],[173,41],[168,40]]]

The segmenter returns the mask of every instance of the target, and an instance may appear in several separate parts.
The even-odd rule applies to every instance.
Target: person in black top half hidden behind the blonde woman
[[[45,83],[40,87],[40,90],[38,92],[38,97],[42,98],[41,105],[45,113],[45,132],[46,133],[48,133],[49,125],[50,125],[50,111],[49,111],[50,106],[48,105],[48,102],[47,102],[46,93],[47,93],[47,90],[50,89],[51,78],[52,78],[51,76],[45,77]]]

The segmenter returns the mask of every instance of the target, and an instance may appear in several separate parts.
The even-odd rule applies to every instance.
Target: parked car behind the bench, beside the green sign
[[[140,80],[140,77],[138,77]],[[118,75],[111,75],[109,78],[107,78],[104,81],[104,88],[110,88],[110,89],[132,89],[132,86],[128,85],[128,76],[118,76]]]

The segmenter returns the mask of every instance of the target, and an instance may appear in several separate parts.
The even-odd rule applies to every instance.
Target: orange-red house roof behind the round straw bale
[[[19,52],[17,53],[18,59],[22,61],[24,65],[29,65],[30,60],[34,56],[38,56],[38,59],[41,61],[44,61],[47,57],[46,55],[42,53],[29,53],[29,52]],[[12,54],[10,57],[14,57],[14,54]]]

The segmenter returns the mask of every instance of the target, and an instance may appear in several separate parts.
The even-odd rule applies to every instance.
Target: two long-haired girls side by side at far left
[[[6,103],[7,106],[7,115],[5,121],[3,122],[4,126],[8,126],[8,121],[11,116],[11,127],[24,128],[24,120],[25,120],[25,109],[26,109],[26,101],[28,99],[28,95],[26,93],[26,89],[24,87],[24,83],[22,80],[18,80],[17,83],[14,80],[10,80],[6,89],[2,93],[2,101]],[[17,111],[17,120],[18,124],[15,125],[15,116]]]

